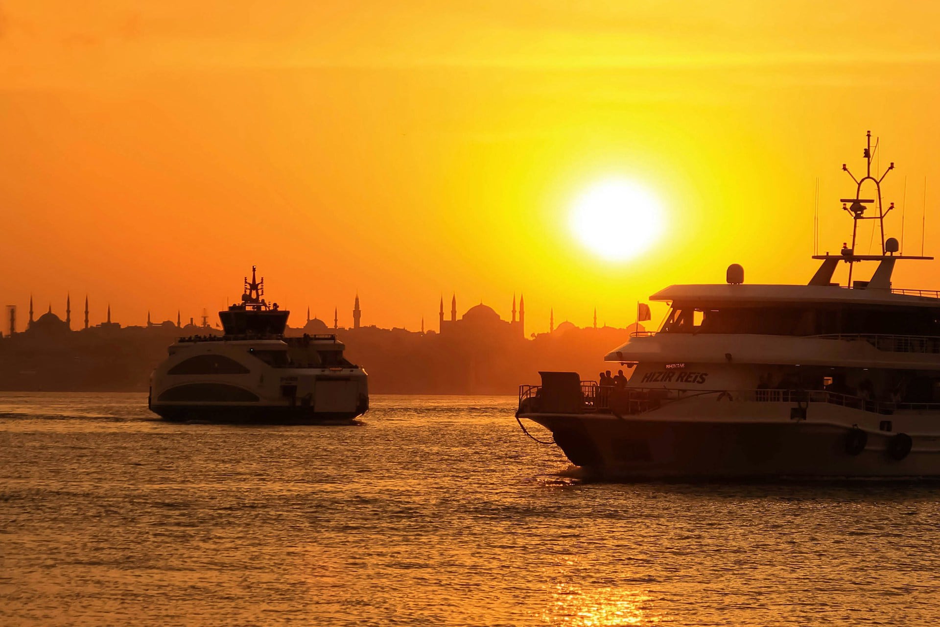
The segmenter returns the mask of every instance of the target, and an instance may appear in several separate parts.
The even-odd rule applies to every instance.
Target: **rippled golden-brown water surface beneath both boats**
[[[940,623],[936,484],[589,484],[505,397],[352,427],[0,395],[0,624]]]

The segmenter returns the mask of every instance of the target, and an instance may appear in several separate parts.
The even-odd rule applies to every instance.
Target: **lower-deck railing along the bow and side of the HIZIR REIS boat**
[[[541,385],[519,386],[519,413],[539,413]],[[872,400],[828,390],[744,389],[744,390],[690,390],[676,388],[640,388],[599,385],[582,382],[583,405],[581,413],[614,413],[616,415],[642,414],[671,402],[713,396],[729,402],[785,402],[797,406],[809,403],[828,403],[874,414],[893,414],[896,410],[940,411],[940,402],[900,402]]]

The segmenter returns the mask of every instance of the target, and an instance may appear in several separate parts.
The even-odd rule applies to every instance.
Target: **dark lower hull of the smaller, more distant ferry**
[[[257,425],[348,424],[365,414],[364,409],[315,412],[310,407],[271,405],[151,405],[150,411],[170,422]]]

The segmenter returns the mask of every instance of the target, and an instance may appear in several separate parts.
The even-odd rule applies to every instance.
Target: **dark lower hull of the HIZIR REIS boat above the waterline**
[[[812,422],[670,420],[615,415],[525,415],[552,431],[572,463],[598,478],[940,478],[940,438],[914,436],[901,460],[895,433],[868,432],[847,450],[851,428]]]

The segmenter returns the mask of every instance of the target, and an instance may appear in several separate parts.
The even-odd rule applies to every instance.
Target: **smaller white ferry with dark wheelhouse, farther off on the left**
[[[167,420],[349,422],[368,411],[363,368],[335,335],[284,337],[290,311],[244,279],[242,302],[219,312],[222,337],[181,337],[150,376],[150,411]]]

